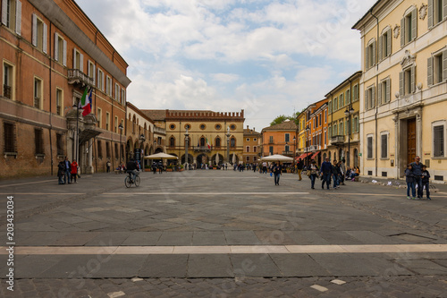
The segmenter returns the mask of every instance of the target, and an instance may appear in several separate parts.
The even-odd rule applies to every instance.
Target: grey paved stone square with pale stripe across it
[[[433,200],[369,183],[217,170],[0,182],[14,197],[12,297],[444,297],[447,187]],[[0,273],[8,272],[5,248]],[[342,283],[332,282],[341,280]],[[315,285],[315,286],[314,286]]]

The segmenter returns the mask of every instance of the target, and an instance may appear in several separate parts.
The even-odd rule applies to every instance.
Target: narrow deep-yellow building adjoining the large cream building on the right
[[[328,99],[329,145],[326,156],[346,160],[346,166],[359,166],[359,83],[362,72],[355,72],[332,89]]]

